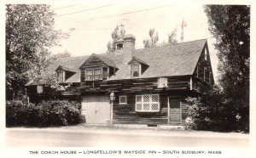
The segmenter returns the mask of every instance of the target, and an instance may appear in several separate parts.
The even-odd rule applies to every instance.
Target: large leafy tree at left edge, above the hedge
[[[29,78],[48,66],[49,48],[68,37],[55,31],[53,16],[49,5],[6,5],[7,99],[24,93]]]

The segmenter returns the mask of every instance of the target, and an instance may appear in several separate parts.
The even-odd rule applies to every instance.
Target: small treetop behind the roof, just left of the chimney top
[[[112,42],[108,42],[107,44],[107,53],[111,53],[114,51],[114,45],[113,43],[119,40],[120,38],[123,38],[125,36],[125,25],[116,25],[116,27],[113,29],[113,32],[111,33]]]

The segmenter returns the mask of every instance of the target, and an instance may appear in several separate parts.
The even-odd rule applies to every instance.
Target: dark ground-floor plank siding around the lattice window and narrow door
[[[147,94],[147,93],[144,93]],[[135,98],[137,94],[126,95],[127,104],[119,104],[119,95],[113,104],[113,123],[114,124],[146,124],[146,125],[167,125],[168,124],[168,97],[173,93],[160,93],[160,111],[156,113],[135,111]],[[124,94],[120,94],[124,95]],[[180,95],[183,95],[180,93]],[[176,95],[178,96],[178,95]],[[186,103],[185,98],[181,96],[181,119],[184,124],[185,119],[189,116],[189,105]],[[172,123],[169,123],[172,125]],[[177,124],[177,123],[176,123]]]

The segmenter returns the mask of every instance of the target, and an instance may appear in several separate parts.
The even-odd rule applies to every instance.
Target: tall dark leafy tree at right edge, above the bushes
[[[219,83],[225,104],[248,115],[250,63],[250,6],[208,5],[204,7],[209,31],[216,38]],[[247,111],[239,112],[241,109]],[[247,122],[243,122],[248,126]]]

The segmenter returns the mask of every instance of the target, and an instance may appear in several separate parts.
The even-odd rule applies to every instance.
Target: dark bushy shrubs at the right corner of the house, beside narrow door
[[[187,129],[248,132],[248,108],[236,109],[224,98],[223,91],[214,86],[201,98],[186,99],[189,117],[185,121]]]

